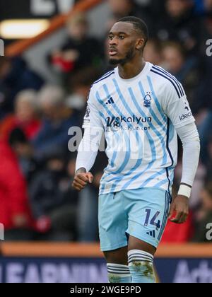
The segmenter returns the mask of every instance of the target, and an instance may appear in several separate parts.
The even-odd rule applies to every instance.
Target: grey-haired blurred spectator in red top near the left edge
[[[8,140],[8,134],[20,127],[28,139],[33,139],[40,130],[37,93],[33,90],[20,91],[15,98],[14,115],[8,115],[0,122],[0,138]]]

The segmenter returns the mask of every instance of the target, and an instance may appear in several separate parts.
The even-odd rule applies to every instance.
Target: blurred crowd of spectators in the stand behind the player
[[[146,61],[183,84],[201,136],[201,161],[186,224],[168,223],[163,242],[206,242],[212,223],[212,0],[108,0],[111,16],[102,38],[89,35],[83,13],[66,24],[66,40],[46,53],[58,85],[49,85],[23,57],[0,59],[0,221],[6,240],[98,240],[98,187],[107,158],[100,153],[93,185],[71,188],[76,153],[69,128],[81,127],[90,86],[110,66],[108,30],[122,16],[146,21]],[[160,2],[160,5],[159,3]],[[192,158],[192,156],[191,156]],[[173,196],[182,173],[182,147]]]

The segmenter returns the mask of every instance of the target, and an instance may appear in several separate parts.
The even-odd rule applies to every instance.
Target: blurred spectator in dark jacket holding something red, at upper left
[[[88,30],[89,23],[84,14],[79,13],[69,19],[68,40],[51,55],[52,65],[61,74],[74,74],[86,66],[100,66],[102,57],[100,42],[88,36]],[[69,75],[66,76],[69,78]]]

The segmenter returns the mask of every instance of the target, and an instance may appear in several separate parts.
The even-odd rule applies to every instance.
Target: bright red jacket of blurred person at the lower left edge
[[[30,239],[30,211],[25,178],[11,147],[0,141],[0,223],[6,240]]]

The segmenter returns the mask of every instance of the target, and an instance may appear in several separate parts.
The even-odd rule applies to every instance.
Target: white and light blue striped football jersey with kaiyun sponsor
[[[171,192],[177,165],[175,128],[193,123],[182,84],[146,62],[141,73],[122,79],[118,68],[96,81],[84,128],[102,129],[108,166],[100,194],[158,187]]]

